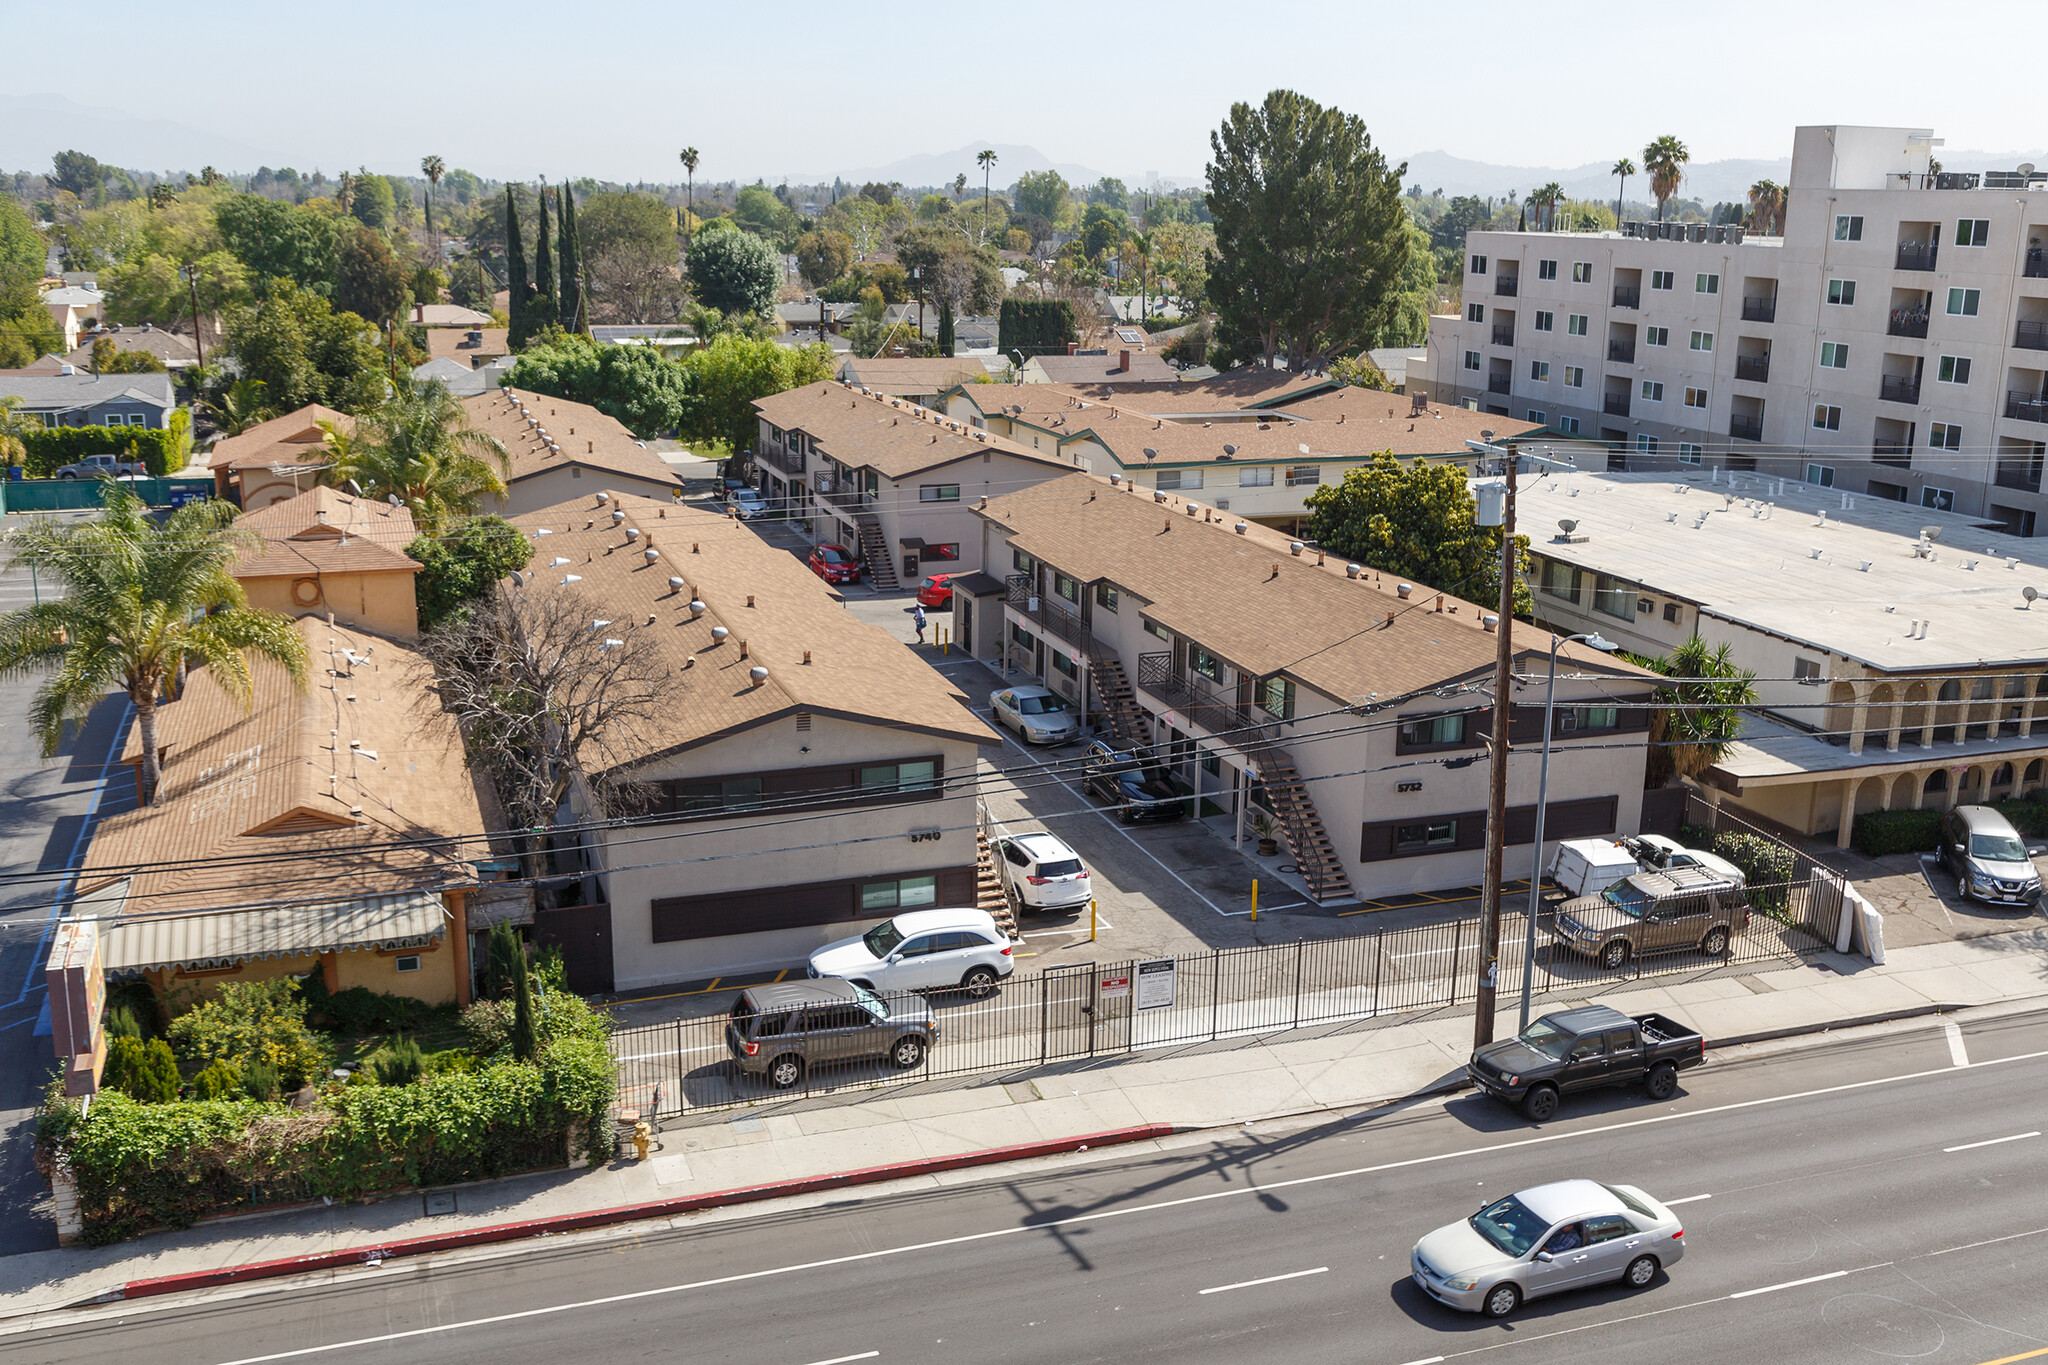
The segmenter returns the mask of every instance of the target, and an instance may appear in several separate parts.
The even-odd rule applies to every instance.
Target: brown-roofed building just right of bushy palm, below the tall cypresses
[[[512,458],[494,512],[524,516],[598,487],[637,497],[682,497],[682,475],[616,417],[545,393],[496,389],[463,399],[469,426],[496,436]]]

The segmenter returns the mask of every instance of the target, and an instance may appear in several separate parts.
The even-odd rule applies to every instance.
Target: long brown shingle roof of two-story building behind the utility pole
[[[1497,636],[1470,602],[1446,598],[1438,612],[1438,591],[1421,583],[1403,600],[1393,575],[1348,579],[1343,561],[1317,565],[1313,551],[1296,559],[1288,536],[1253,524],[1237,534],[1239,522],[1204,503],[1159,503],[1143,489],[1069,475],[991,497],[979,512],[1026,555],[1081,583],[1114,583],[1145,616],[1233,665],[1288,673],[1341,702],[1391,700],[1493,667]],[[1524,639],[1548,649],[1540,632]],[[1563,653],[1630,671],[1583,647]]]

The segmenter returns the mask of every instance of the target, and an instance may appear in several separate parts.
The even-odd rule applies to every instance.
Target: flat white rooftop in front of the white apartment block
[[[1585,540],[1556,538],[1559,520]],[[1878,671],[2048,659],[2048,600],[2021,593],[2048,593],[2048,540],[1968,516],[1729,471],[1575,473],[1524,479],[1518,530],[1536,555]]]

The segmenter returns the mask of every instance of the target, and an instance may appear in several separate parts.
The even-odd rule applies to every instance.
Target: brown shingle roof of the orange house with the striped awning
[[[332,900],[336,886],[373,896],[471,880],[446,849],[379,847],[483,831],[455,722],[420,704],[426,663],[365,630],[319,618],[293,626],[311,655],[305,692],[252,659],[250,706],[199,669],[158,710],[158,798],[98,825],[80,892],[143,868],[127,913],[166,915]],[[123,761],[139,755],[133,726]],[[268,862],[233,862],[248,857]],[[147,870],[168,862],[186,866]]]

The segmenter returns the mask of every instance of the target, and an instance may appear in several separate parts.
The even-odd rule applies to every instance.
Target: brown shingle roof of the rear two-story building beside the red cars
[[[969,387],[997,389],[995,385]],[[872,469],[885,479],[905,479],[985,450],[1071,469],[1065,460],[1028,450],[1004,436],[977,432],[965,422],[946,417],[946,413],[907,399],[864,395],[838,381],[756,399],[754,409],[774,426],[803,430],[842,465]]]

